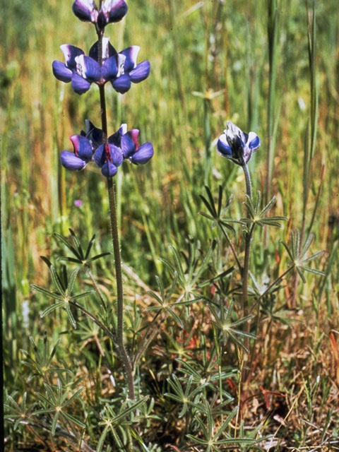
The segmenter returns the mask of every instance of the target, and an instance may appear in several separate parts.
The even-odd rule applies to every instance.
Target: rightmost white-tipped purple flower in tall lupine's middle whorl
[[[140,83],[150,75],[150,62],[148,60],[141,61],[139,64],[136,63],[139,51],[140,47],[133,45],[119,52],[119,55],[124,57],[119,61],[124,61],[124,64],[119,67],[119,73],[114,80],[111,80],[114,90],[118,93],[126,93],[131,88],[131,82]]]

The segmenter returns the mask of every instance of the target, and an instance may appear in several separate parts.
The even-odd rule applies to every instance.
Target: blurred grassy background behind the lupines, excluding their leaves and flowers
[[[90,322],[83,320],[83,328],[73,331],[59,311],[40,319],[49,301],[32,293],[30,284],[49,285],[48,268],[40,255],[52,260],[65,254],[53,232],[67,236],[71,227],[83,243],[96,234],[97,254],[111,251],[105,180],[96,169],[66,174],[59,164],[59,153],[71,149],[69,136],[79,133],[86,118],[100,125],[99,94],[92,89],[81,97],[74,95],[69,85],[54,79],[51,66],[52,60],[62,59],[60,44],[88,51],[95,34],[73,16],[71,0],[1,3],[6,389],[18,402],[22,402],[24,391],[30,399],[37,383],[32,369],[23,364],[25,357],[20,350],[34,354],[30,336],[37,344],[45,334],[51,350],[61,338],[55,359],[61,367],[72,369],[76,379],[84,379],[84,400],[90,400],[86,406],[93,408],[100,397],[112,398],[114,388],[107,369],[115,369],[114,379],[119,380],[119,362],[112,358],[109,366],[105,364],[95,345],[99,333]],[[206,184],[215,196],[219,185],[225,197],[233,194],[232,213],[238,218],[244,215],[243,174],[215,150],[215,139],[225,129],[227,119],[261,136],[261,148],[250,163],[254,191],[267,193],[270,155],[270,191],[277,197],[275,214],[288,218],[283,230],[263,231],[254,238],[254,278],[265,285],[268,278],[282,273],[288,256],[280,240],[289,242],[291,230],[304,227],[307,232],[311,227],[315,234],[311,250],[326,251],[316,263],[325,276],[310,274],[305,284],[292,278],[283,281],[275,295],[276,311],[270,311],[270,319],[258,333],[243,425],[254,428],[265,420],[260,434],[275,434],[280,441],[270,448],[264,441],[259,444],[270,451],[338,450],[337,2],[316,1],[315,13],[312,29],[311,4],[307,13],[301,1],[130,0],[126,18],[107,28],[114,47],[140,45],[140,61],[149,59],[152,68],[148,80],[133,85],[129,95],[117,96],[107,89],[109,130],[113,133],[126,121],[129,128],[141,129],[141,142],[152,141],[155,148],[150,165],[119,169],[116,180],[124,284],[131,316],[133,309],[153,304],[148,291],[158,290],[155,275],[162,278],[165,287],[172,284],[173,275],[159,259],[173,262],[170,244],[184,255],[189,244],[194,244],[201,250],[199,259],[199,253],[205,255],[216,239],[218,251],[211,275],[232,265],[232,258],[225,257],[227,246],[217,228],[198,215],[205,210],[199,195],[205,196]],[[83,204],[76,207],[74,201],[79,199]],[[241,242],[240,232],[234,241]],[[109,291],[114,292],[112,268],[111,258],[102,259],[93,268],[108,298]],[[181,295],[177,287],[175,293]],[[186,347],[184,357],[189,359],[198,353],[189,352],[190,347],[200,353],[203,338],[213,341],[208,336],[212,335],[210,319],[208,314],[203,317],[201,304],[191,313],[187,311],[184,328],[171,316],[164,319],[140,365],[141,381],[155,400],[151,410],[154,427],[143,434],[145,443],[154,447],[149,446],[149,450],[208,450],[197,448],[193,440],[191,446],[184,446],[188,440],[184,439],[185,427],[177,422],[176,402],[163,396],[171,389],[167,378],[181,365],[175,364],[176,358],[183,357],[177,345]],[[201,323],[195,326],[189,314],[196,316],[196,321],[202,319]],[[134,337],[131,323],[126,323],[129,343]],[[234,350],[232,356],[236,356]],[[232,377],[228,380],[224,388],[232,393]],[[276,391],[280,396],[268,402],[265,391]],[[146,392],[143,390],[143,395]],[[81,407],[74,411],[80,413]],[[159,420],[164,413],[169,413],[166,424]],[[91,417],[89,409],[85,416]],[[24,427],[14,430],[13,424],[7,425],[8,451],[39,447],[66,451],[73,447],[41,432],[38,437]],[[102,427],[92,425],[85,439],[95,447],[101,431]],[[115,449],[107,446],[105,450]]]

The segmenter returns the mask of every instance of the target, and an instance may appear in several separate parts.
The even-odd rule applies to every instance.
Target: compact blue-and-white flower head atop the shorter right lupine
[[[244,166],[260,144],[260,138],[256,133],[244,133],[231,121],[227,121],[227,129],[218,139],[217,150],[223,157],[229,158],[237,165]]]

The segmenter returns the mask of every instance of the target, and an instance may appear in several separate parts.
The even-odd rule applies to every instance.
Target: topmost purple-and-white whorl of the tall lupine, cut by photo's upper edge
[[[124,0],[102,1],[100,10],[94,0],[76,0],[72,9],[80,20],[92,22],[103,30],[108,23],[119,22],[126,15],[128,8]]]

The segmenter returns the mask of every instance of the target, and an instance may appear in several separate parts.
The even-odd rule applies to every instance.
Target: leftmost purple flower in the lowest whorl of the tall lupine
[[[93,146],[88,138],[82,135],[73,135],[70,138],[73,144],[73,153],[63,150],[60,155],[61,165],[71,171],[80,171],[92,160]]]

